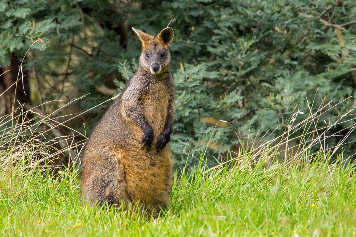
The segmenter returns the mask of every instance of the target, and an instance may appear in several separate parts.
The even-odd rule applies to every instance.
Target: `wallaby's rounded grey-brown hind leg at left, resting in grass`
[[[106,152],[105,156],[94,154],[85,158],[86,163],[82,169],[84,203],[101,206],[106,202],[120,205],[121,201],[125,201],[125,206],[128,206],[130,197],[126,191],[124,166],[119,159]],[[87,168],[90,166],[95,167],[95,170],[89,173]]]

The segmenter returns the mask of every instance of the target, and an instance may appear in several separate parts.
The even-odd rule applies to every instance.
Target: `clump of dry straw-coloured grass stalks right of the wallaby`
[[[239,165],[247,165],[248,167],[250,167],[251,171],[252,167],[256,165],[261,159],[265,159],[266,161],[268,161],[269,164],[271,164],[272,161],[280,162],[281,160],[284,161],[286,165],[290,165],[292,163],[303,164],[315,158],[313,157],[313,153],[310,154],[312,148],[314,150],[316,148],[323,154],[325,162],[328,162],[330,160],[338,160],[340,158],[340,155],[342,154],[340,148],[342,148],[343,145],[346,145],[348,143],[356,142],[351,141],[345,143],[346,139],[356,128],[355,117],[353,114],[356,109],[356,106],[352,107],[349,111],[346,111],[332,124],[326,123],[325,120],[320,121],[320,118],[321,115],[324,115],[325,113],[330,113],[331,109],[335,108],[341,103],[344,103],[350,98],[351,97],[346,98],[333,106],[331,106],[331,101],[325,104],[326,98],[324,98],[323,102],[320,104],[319,108],[316,109],[315,112],[312,112],[314,100],[312,102],[312,105],[309,106],[309,102],[307,99],[309,115],[307,115],[306,118],[304,118],[297,124],[294,124],[295,121],[297,121],[297,117],[304,114],[303,111],[300,111],[299,109],[295,108],[295,112],[293,111],[294,113],[287,121],[286,129],[284,130],[283,134],[272,138],[272,135],[275,135],[277,129],[269,135],[265,134],[263,135],[262,139],[257,142],[257,144],[253,144],[253,146],[251,146],[250,148],[246,147],[245,150],[249,149],[246,152],[242,152],[242,150],[240,149],[239,153],[236,154],[236,157],[222,162],[218,166],[208,169],[208,171],[206,172],[212,171],[218,167],[226,165],[227,163],[236,161]],[[353,122],[352,125],[349,125],[346,128],[336,131],[333,134],[329,134],[331,129],[335,128],[337,125],[344,124],[350,121]],[[320,123],[325,125],[320,126]],[[282,126],[282,124],[278,127]],[[297,135],[297,133],[300,132],[301,135]],[[345,135],[341,136],[339,135],[339,133],[345,133]],[[338,144],[336,146],[326,148],[327,140],[329,138],[337,136],[340,136]],[[290,143],[292,141],[294,141],[295,145],[290,146]],[[241,145],[243,146],[244,144]],[[339,151],[339,153],[337,153],[337,151]],[[278,159],[277,155],[283,153],[283,159]],[[350,159],[354,155],[355,154],[349,157],[343,157],[343,159]]]

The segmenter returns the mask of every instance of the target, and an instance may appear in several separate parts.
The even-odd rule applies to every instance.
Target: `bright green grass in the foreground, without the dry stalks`
[[[76,174],[17,176],[9,190],[0,179],[2,236],[355,236],[354,168],[314,163],[237,168],[182,177],[172,206],[145,220],[80,204]],[[43,174],[43,173],[42,173]],[[315,204],[315,206],[313,205]],[[79,224],[79,226],[78,226]],[[296,234],[298,235],[296,235]]]

